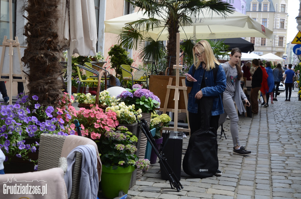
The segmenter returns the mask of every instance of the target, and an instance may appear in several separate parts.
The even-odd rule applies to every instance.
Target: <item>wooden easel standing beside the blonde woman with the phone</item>
[[[178,52],[180,52],[180,33],[177,33],[177,53]],[[176,57],[177,57],[177,60],[176,60],[177,65],[173,65],[173,68],[176,69],[175,86],[171,85],[172,78],[169,78],[164,107],[163,107],[163,109],[162,108],[160,109],[160,111],[163,111],[163,113],[166,113],[166,111],[175,113],[174,126],[173,127],[163,127],[162,130],[184,131],[184,132],[189,132],[189,135],[190,135],[190,126],[189,126],[189,118],[188,118],[188,110],[187,110],[187,103],[188,103],[187,87],[185,86],[185,79],[182,79],[182,86],[179,86],[179,76],[180,76],[180,69],[182,69],[182,65],[178,65],[180,63],[180,59],[179,59],[179,56],[176,56]],[[175,89],[175,96],[174,96],[175,108],[174,109],[167,109],[170,89]],[[186,109],[178,109],[180,90],[182,90],[183,94],[184,94],[184,101],[185,101]],[[182,113],[186,112],[187,121],[188,121],[188,129],[178,127],[178,113],[181,113],[181,112]]]

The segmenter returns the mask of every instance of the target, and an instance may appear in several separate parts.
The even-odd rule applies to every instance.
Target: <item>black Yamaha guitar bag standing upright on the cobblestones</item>
[[[207,178],[213,176],[219,168],[218,145],[216,134],[209,127],[213,97],[202,97],[200,100],[202,127],[191,135],[182,166],[190,176]]]

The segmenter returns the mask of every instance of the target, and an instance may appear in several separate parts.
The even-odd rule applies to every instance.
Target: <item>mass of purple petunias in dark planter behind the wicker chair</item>
[[[68,135],[69,127],[56,118],[52,106],[41,106],[38,96],[23,96],[14,105],[2,105],[0,110],[0,148],[5,154],[6,173],[37,170],[38,146],[41,133]],[[61,96],[59,106],[73,102],[73,96]],[[63,113],[61,113],[63,114]],[[63,114],[66,115],[67,113]],[[14,164],[15,163],[15,164]]]

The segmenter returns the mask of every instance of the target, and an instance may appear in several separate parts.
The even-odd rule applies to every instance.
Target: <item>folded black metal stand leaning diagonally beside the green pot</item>
[[[182,184],[178,180],[175,173],[173,173],[172,169],[170,168],[169,164],[166,161],[166,157],[164,157],[164,154],[161,154],[161,152],[159,151],[159,148],[157,147],[157,144],[155,142],[154,137],[151,135],[151,131],[150,131],[146,121],[144,119],[142,119],[140,121],[138,119],[137,115],[136,115],[136,120],[138,121],[138,125],[141,128],[144,135],[146,136],[147,140],[150,142],[151,146],[153,147],[154,152],[158,156],[159,161],[161,163],[161,166],[163,167],[163,169],[167,173],[169,184],[170,184],[171,188],[175,187],[177,189],[177,191],[179,192],[184,187],[182,186]]]

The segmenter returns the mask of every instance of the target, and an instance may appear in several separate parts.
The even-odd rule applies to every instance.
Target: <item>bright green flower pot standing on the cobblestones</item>
[[[102,167],[101,170],[101,192],[102,196],[108,199],[118,197],[119,191],[123,190],[126,194],[129,191],[129,184],[134,166],[118,167],[112,170],[112,167]]]

